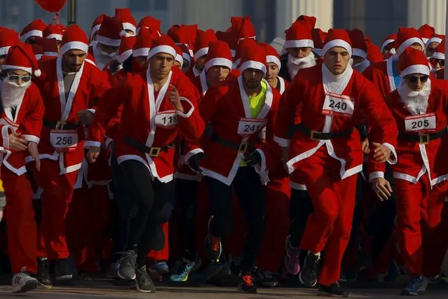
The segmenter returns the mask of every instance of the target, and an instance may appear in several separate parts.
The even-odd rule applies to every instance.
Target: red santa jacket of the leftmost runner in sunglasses
[[[36,85],[32,83],[15,111],[15,118],[9,109],[1,109],[0,114],[0,161],[3,165],[18,176],[25,174],[26,157],[28,150],[15,151],[9,148],[8,134],[20,133],[21,137],[27,141],[34,141],[39,144],[42,128],[43,101]]]

